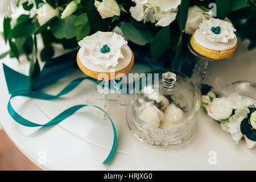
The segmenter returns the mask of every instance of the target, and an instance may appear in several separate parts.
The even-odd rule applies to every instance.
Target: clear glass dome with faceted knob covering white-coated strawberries
[[[135,137],[147,144],[175,146],[194,133],[200,103],[200,94],[187,76],[157,69],[135,81],[127,124]]]

